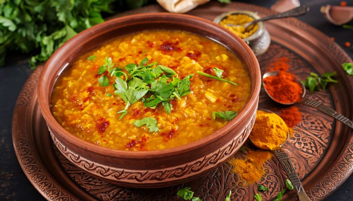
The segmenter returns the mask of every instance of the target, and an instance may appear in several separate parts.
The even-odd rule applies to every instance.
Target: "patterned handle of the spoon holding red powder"
[[[317,100],[304,98],[302,100],[302,102],[300,102],[300,103],[307,105],[307,106],[310,106],[312,108],[315,108],[323,113],[326,113],[327,115],[335,118],[336,120],[342,122],[343,124],[347,125],[351,129],[353,129],[353,122],[352,121],[350,121],[348,118],[344,117],[343,115],[337,113],[336,111],[332,110],[331,108],[324,106],[323,104],[321,104]]]

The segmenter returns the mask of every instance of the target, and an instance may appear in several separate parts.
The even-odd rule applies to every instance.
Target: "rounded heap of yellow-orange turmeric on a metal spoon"
[[[288,127],[275,113],[258,111],[253,130],[250,133],[251,142],[261,148],[273,150],[282,145],[288,135]]]

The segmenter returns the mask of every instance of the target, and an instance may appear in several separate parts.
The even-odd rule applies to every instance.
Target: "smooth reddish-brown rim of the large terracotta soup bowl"
[[[160,18],[160,19],[164,19],[163,17],[168,17],[168,18],[173,18],[174,20],[177,20],[180,18],[183,18],[183,19],[187,18],[190,21],[199,21],[201,23],[207,23],[207,24],[210,24],[211,26],[214,26],[215,28],[219,29],[220,31],[226,32],[227,34],[231,35],[234,40],[238,41],[240,44],[243,45],[243,48],[245,48],[246,52],[251,57],[251,60],[252,60],[251,65],[254,65],[256,68],[255,80],[251,80],[252,81],[252,88],[254,87],[254,90],[252,90],[251,95],[248,99],[248,102],[246,103],[243,110],[238,114],[238,116],[236,118],[234,118],[233,120],[228,122],[221,129],[210,134],[209,136],[206,136],[200,140],[197,140],[195,142],[191,142],[186,145],[181,145],[181,146],[167,148],[167,149],[161,149],[161,150],[126,151],[126,150],[110,149],[110,148],[102,147],[102,146],[93,144],[91,142],[85,141],[85,140],[71,134],[69,131],[67,131],[64,127],[62,127],[55,120],[55,118],[53,117],[53,115],[51,113],[50,107],[49,107],[50,101],[48,102],[48,104],[45,104],[44,100],[47,99],[47,97],[44,97],[43,93],[41,92],[42,90],[43,91],[45,90],[44,88],[41,89],[41,85],[42,85],[41,82],[43,82],[43,79],[45,79],[43,76],[44,72],[46,71],[47,68],[49,68],[49,66],[55,65],[55,64],[52,64],[51,61],[54,60],[55,57],[58,57],[61,54],[63,54],[63,51],[65,48],[67,48],[68,46],[70,47],[71,45],[75,45],[73,43],[73,41],[81,40],[80,42],[85,43],[84,39],[87,36],[91,35],[92,30],[104,29],[104,27],[106,27],[108,25],[108,23],[111,23],[111,22],[114,22],[114,24],[117,24],[117,23],[122,23],[124,21],[128,21],[128,20],[135,20],[136,21],[136,20],[139,20],[140,18],[151,18],[152,16],[153,16],[153,18]],[[170,19],[168,19],[168,20],[170,20]],[[163,27],[159,27],[159,29],[163,29]],[[190,32],[193,33],[192,31],[190,31]],[[209,37],[209,38],[212,39],[212,37]],[[221,44],[221,45],[224,46],[224,44]],[[249,76],[251,76],[249,71],[248,71],[248,73],[249,73]],[[53,76],[56,76],[56,74],[53,74]],[[242,121],[242,119],[244,119],[246,117],[246,115],[252,111],[253,105],[255,105],[257,103],[257,97],[259,96],[260,89],[261,89],[261,72],[260,72],[260,66],[259,66],[258,60],[257,60],[255,54],[253,53],[253,51],[251,50],[251,48],[241,38],[234,35],[230,31],[228,31],[227,29],[221,27],[220,25],[213,23],[212,21],[209,21],[207,19],[203,19],[200,17],[191,16],[191,15],[186,15],[186,14],[145,13],[145,14],[129,15],[129,16],[125,16],[125,17],[111,19],[111,20],[108,20],[108,21],[103,22],[101,24],[95,25],[89,29],[86,29],[86,30],[80,32],[79,34],[77,34],[76,36],[74,36],[72,39],[70,39],[69,41],[64,43],[60,48],[58,48],[50,56],[49,60],[45,63],[45,65],[41,71],[37,87],[38,87],[38,90],[37,90],[38,91],[37,92],[38,93],[38,103],[39,103],[39,107],[41,109],[42,116],[45,119],[45,122],[47,123],[48,127],[55,130],[53,132],[54,135],[60,135],[62,138],[64,138],[68,142],[70,142],[73,145],[80,147],[82,149],[86,149],[86,147],[90,147],[91,151],[98,153],[98,154],[101,154],[101,155],[119,156],[120,158],[153,158],[155,156],[161,157],[161,156],[166,156],[166,155],[170,156],[170,155],[185,153],[189,150],[197,149],[198,147],[201,147],[205,144],[211,144],[212,141],[220,138],[221,136],[228,133],[229,130],[236,127],[237,124],[240,123]],[[52,93],[52,91],[49,93]]]

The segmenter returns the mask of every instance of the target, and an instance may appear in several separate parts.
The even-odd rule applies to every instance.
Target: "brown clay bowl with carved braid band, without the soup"
[[[239,115],[215,133],[190,144],[158,151],[120,151],[86,142],[65,130],[50,112],[53,85],[76,58],[103,42],[147,29],[185,30],[211,38],[238,55],[252,80],[251,97]],[[236,153],[255,122],[261,75],[258,61],[240,38],[211,21],[154,13],[116,18],[79,33],[46,62],[38,81],[38,102],[57,148],[75,165],[100,179],[124,186],[161,187],[192,180]]]

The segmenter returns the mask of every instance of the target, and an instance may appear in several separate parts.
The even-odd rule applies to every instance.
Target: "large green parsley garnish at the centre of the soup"
[[[94,59],[94,55],[88,57]],[[99,68],[98,75],[102,75],[98,82],[100,86],[108,86],[107,77],[115,77],[113,87],[114,93],[119,95],[126,103],[125,109],[119,111],[122,119],[128,113],[128,107],[142,98],[145,107],[155,109],[159,103],[167,114],[171,112],[170,100],[181,99],[182,96],[190,93],[190,78],[188,75],[184,79],[178,78],[178,74],[169,67],[158,64],[157,62],[148,63],[148,58],[144,58],[139,65],[135,63],[124,67],[129,74],[122,71],[122,68],[114,67],[110,57],[105,58],[104,64]],[[105,75],[107,74],[107,75]],[[123,77],[123,78],[122,78]],[[150,86],[149,86],[150,85]],[[145,95],[148,93],[148,97]]]

